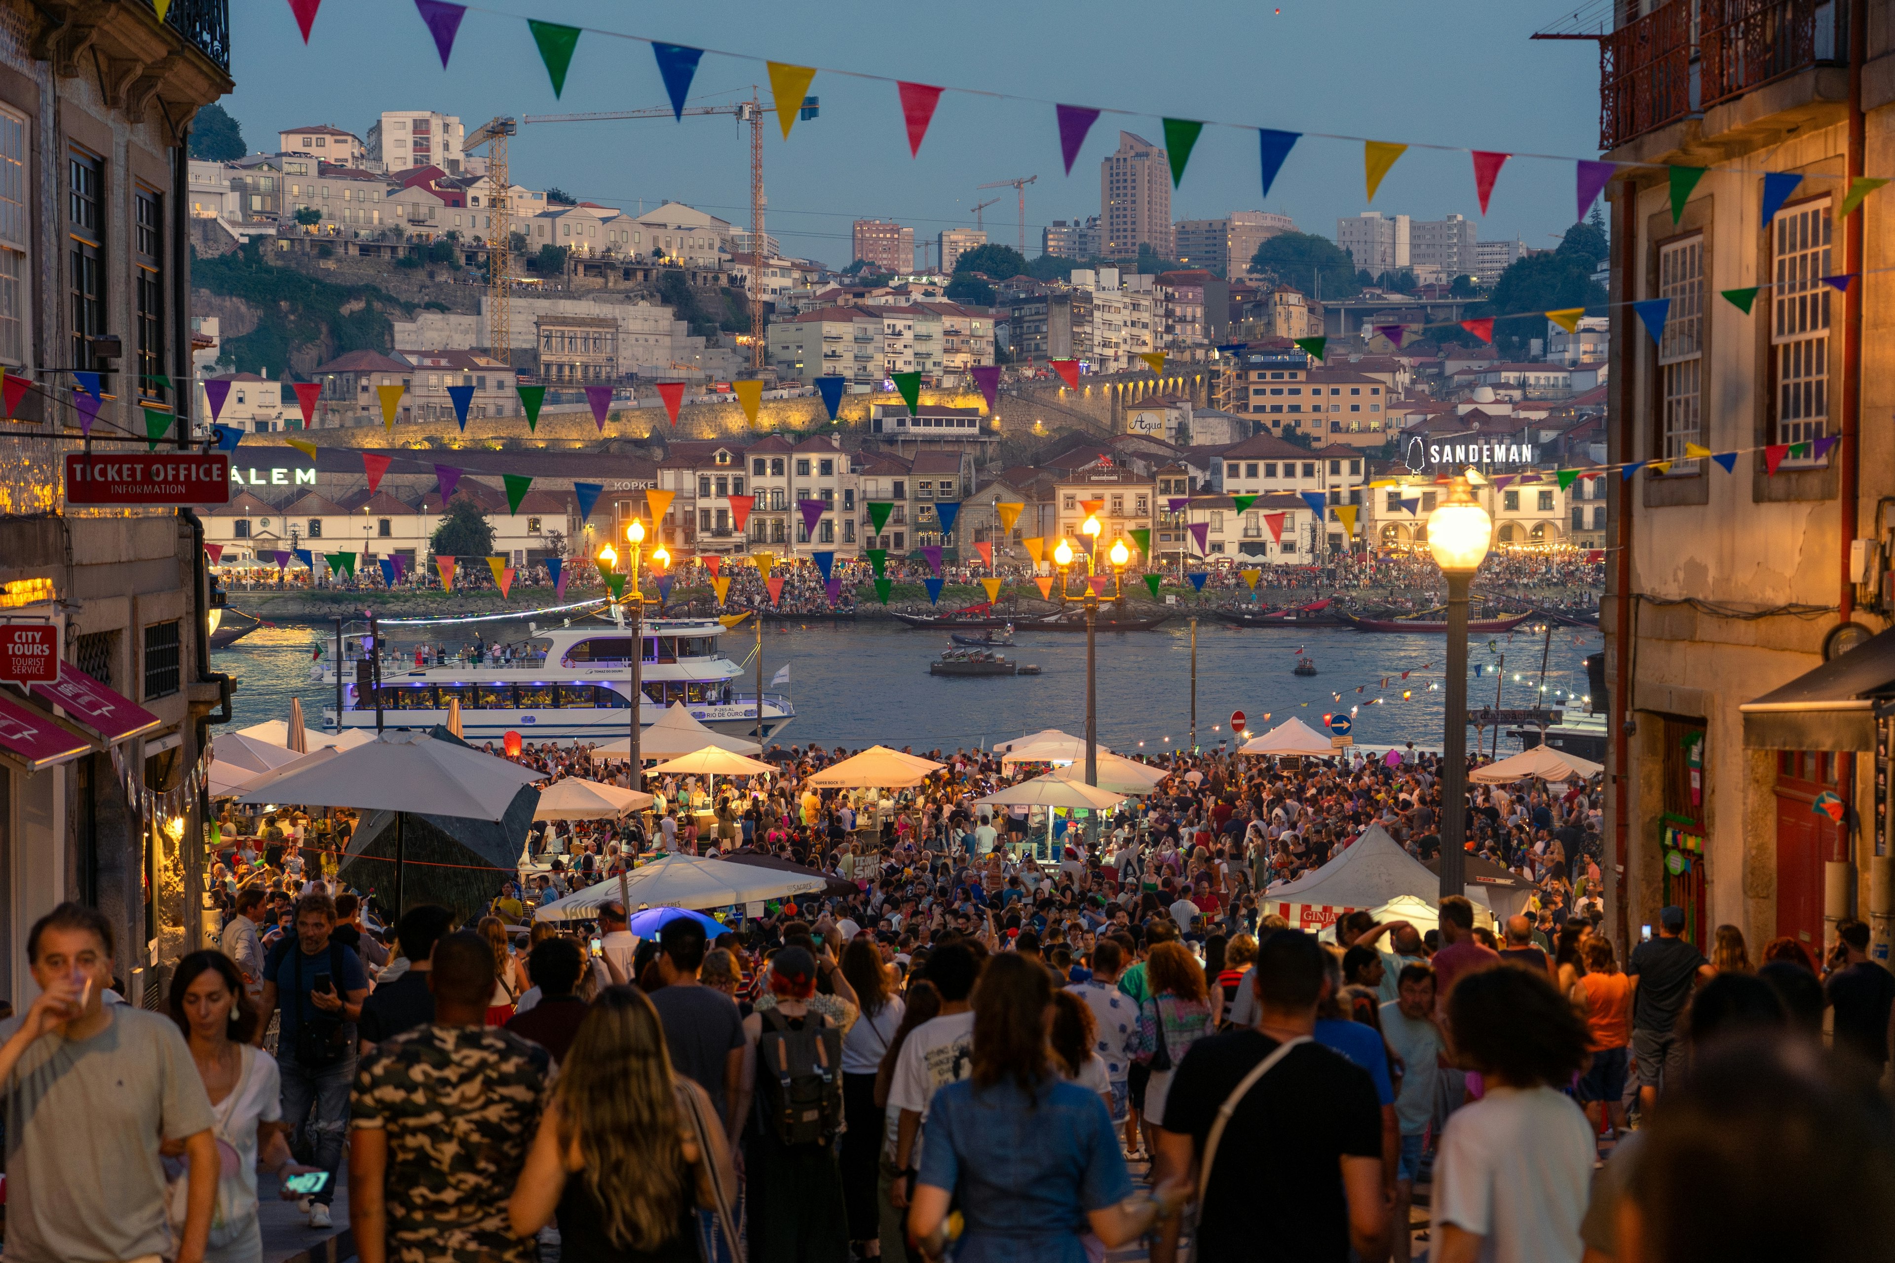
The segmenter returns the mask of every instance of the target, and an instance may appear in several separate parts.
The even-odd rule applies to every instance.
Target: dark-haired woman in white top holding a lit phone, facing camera
[[[256,1172],[279,1178],[303,1170],[284,1140],[282,1087],[277,1062],[250,1047],[256,1009],[243,990],[243,975],[224,952],[191,952],[171,975],[171,1019],[191,1045],[191,1060],[210,1096],[214,1134],[222,1155],[218,1201],[210,1221],[207,1263],[260,1263],[263,1236],[256,1219]],[[176,1147],[176,1153],[171,1149]],[[184,1153],[167,1142],[169,1157]],[[169,1166],[169,1163],[167,1163]],[[284,1201],[294,1193],[284,1191]],[[171,1193],[172,1223],[184,1221],[182,1166]]]

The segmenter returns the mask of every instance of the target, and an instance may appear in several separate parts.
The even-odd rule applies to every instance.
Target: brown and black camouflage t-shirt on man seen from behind
[[[548,1053],[491,1026],[417,1026],[356,1070],[351,1127],[388,1132],[388,1257],[532,1263],[508,1233],[514,1193],[548,1098]]]

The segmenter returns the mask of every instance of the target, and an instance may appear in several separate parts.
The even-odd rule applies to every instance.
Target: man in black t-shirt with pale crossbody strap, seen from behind
[[[1198,1257],[1232,1263],[1345,1263],[1387,1257],[1381,1108],[1368,1072],[1308,1041],[1323,994],[1313,935],[1279,930],[1258,949],[1251,1030],[1190,1045],[1165,1096],[1152,1183],[1196,1182],[1224,1100],[1264,1058],[1296,1041],[1236,1102],[1211,1163]],[[1179,1223],[1165,1223],[1152,1263],[1171,1263]]]

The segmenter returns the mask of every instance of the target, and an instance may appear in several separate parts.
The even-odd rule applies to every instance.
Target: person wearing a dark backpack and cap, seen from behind
[[[769,962],[775,1005],[743,1019],[745,1134],[752,1263],[847,1263],[849,1216],[836,1134],[841,1130],[841,1026],[809,1005],[817,962],[785,947]]]

